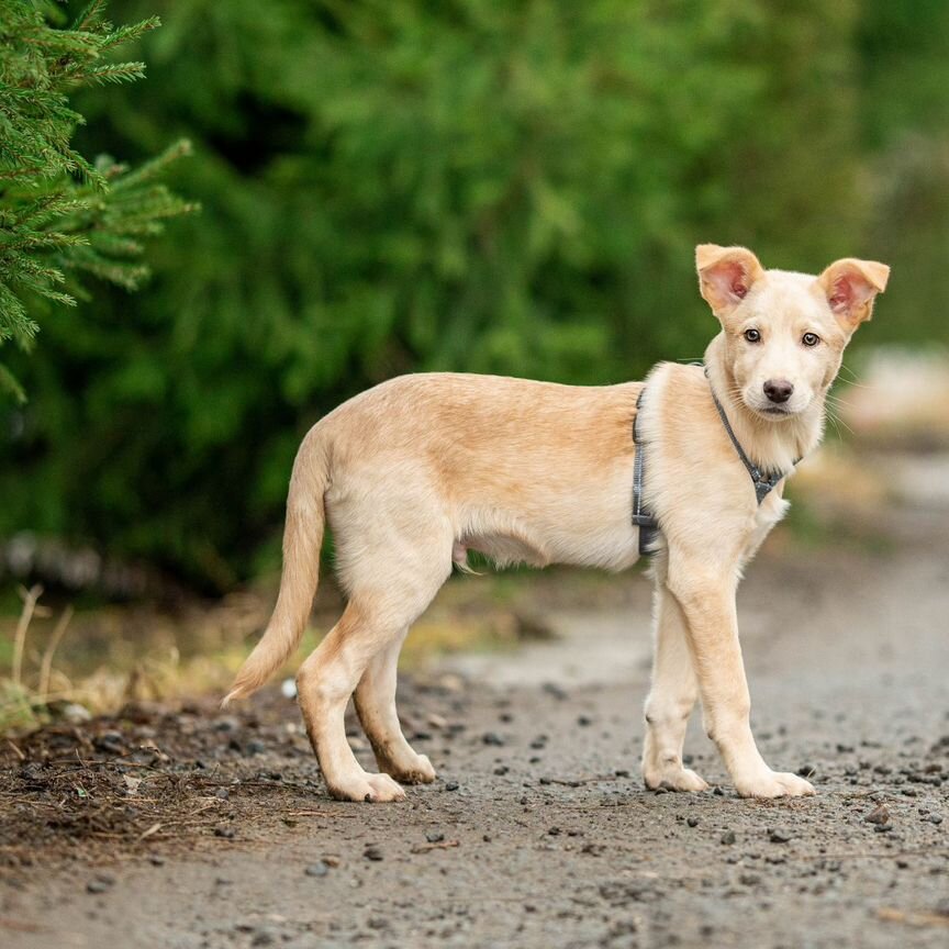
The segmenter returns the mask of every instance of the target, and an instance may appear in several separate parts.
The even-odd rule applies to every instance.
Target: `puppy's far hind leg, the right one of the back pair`
[[[399,652],[407,632],[404,629],[369,662],[356,686],[356,712],[380,770],[405,784],[427,784],[435,780],[435,769],[405,740],[395,711]]]

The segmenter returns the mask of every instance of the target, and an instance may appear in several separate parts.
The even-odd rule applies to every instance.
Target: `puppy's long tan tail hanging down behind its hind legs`
[[[323,494],[328,483],[328,467],[326,447],[313,429],[297,453],[290,478],[283,572],[277,606],[264,636],[237,672],[222,707],[235,699],[253,695],[287,661],[303,637],[320,576],[320,550],[326,522]]]

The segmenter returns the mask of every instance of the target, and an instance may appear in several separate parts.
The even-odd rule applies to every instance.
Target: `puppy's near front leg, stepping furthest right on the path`
[[[705,730],[743,797],[813,794],[796,774],[772,771],[751,735],[751,700],[738,643],[734,571],[692,558],[670,557],[668,585],[682,607]]]

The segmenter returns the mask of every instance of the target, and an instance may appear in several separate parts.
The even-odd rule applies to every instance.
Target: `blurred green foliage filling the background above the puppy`
[[[946,338],[940,0],[123,0],[149,81],[88,94],[86,150],[187,135],[200,217],[44,326],[7,409],[0,534],[211,589],[272,565],[290,465],[411,370],[582,383],[701,355],[702,241],[885,260],[861,335]],[[882,331],[878,332],[878,331]]]

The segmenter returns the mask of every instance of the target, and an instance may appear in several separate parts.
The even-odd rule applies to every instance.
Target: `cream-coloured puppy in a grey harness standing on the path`
[[[707,378],[701,367],[668,362],[646,383],[603,388],[405,376],[350,399],[303,439],[277,606],[225,702],[258,689],[297,648],[328,517],[348,604],[297,681],[331,794],[398,801],[397,780],[435,778],[399,726],[395,669],[409,627],[468,550],[538,567],[623,570],[638,559],[632,428],[644,384],[644,494],[661,527],[646,785],[707,786],[682,764],[701,696],[739,794],[814,793],[802,778],[772,771],[755,745],[735,612],[741,568],[786,509],[783,481],[759,505],[712,393],[751,461],[790,472],[820,440],[844,347],[870,319],[889,268],[845,259],[811,277],[764,270],[750,250],[708,244],[696,260],[702,295],[722,324],[705,353]],[[346,741],[354,692],[384,773],[367,773]]]

